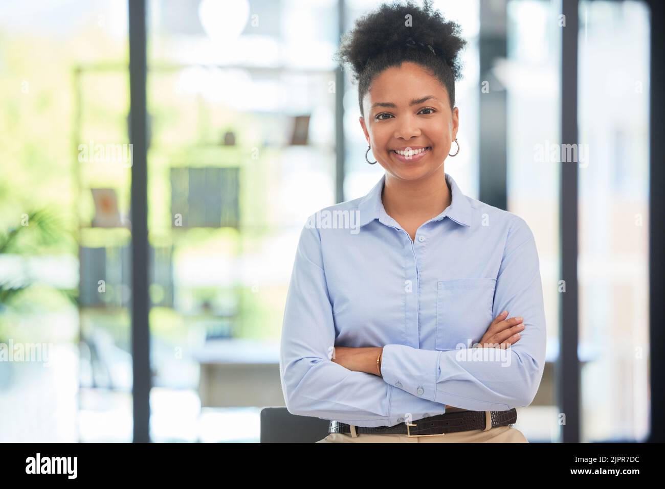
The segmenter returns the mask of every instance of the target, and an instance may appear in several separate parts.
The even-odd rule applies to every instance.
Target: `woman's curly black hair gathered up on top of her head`
[[[375,11],[360,17],[354,29],[344,34],[334,55],[340,65],[349,64],[358,82],[360,114],[362,98],[372,80],[391,66],[413,61],[428,69],[448,90],[450,107],[455,106],[455,80],[462,78],[458,53],[466,46],[460,26],[446,21],[432,0],[423,7],[411,0],[406,3],[384,3]]]

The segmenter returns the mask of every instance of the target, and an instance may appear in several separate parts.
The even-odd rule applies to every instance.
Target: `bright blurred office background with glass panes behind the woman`
[[[259,439],[261,407],[283,405],[279,335],[301,227],[383,172],[364,160],[356,86],[332,61],[340,32],[379,3],[146,1],[147,185],[134,191],[148,203],[147,265],[132,264],[122,152],[127,2],[0,3],[0,343],[50,343],[53,358],[0,361],[0,441],[134,439],[138,265],[150,280],[150,440]],[[562,441],[573,385],[579,411],[565,412],[580,441],[640,441],[651,427],[650,7],[568,5],[563,27],[559,1],[434,2],[468,41],[462,151],[446,171],[467,195],[523,217],[537,241],[547,366],[517,427],[532,442]],[[571,25],[575,107],[562,95]],[[588,147],[577,222],[561,215],[573,195],[561,165],[575,163],[537,156],[565,140],[571,114]],[[577,229],[578,286],[565,294],[577,301],[579,389],[557,369],[567,227]]]

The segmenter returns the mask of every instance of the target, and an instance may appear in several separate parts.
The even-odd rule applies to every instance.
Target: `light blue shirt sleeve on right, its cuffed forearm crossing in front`
[[[535,240],[517,216],[499,267],[492,317],[504,310],[509,318],[524,318],[521,338],[511,347],[439,351],[385,345],[384,381],[424,399],[472,411],[507,411],[531,404],[543,377],[547,334]]]

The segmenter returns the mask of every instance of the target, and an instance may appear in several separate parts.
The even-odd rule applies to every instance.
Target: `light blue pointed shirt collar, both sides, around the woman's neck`
[[[462,193],[453,177],[445,172],[444,175],[446,175],[446,181],[448,182],[448,185],[450,185],[452,199],[450,205],[438,216],[431,219],[431,221],[441,221],[444,217],[450,217],[452,221],[462,226],[470,227],[472,211],[471,203],[466,195]],[[381,193],[385,183],[386,174],[384,173],[376,185],[372,187],[372,190],[362,197],[360,203],[358,203],[358,211],[360,211],[358,227],[371,223],[374,219],[378,219],[384,224],[388,223],[388,221],[395,222],[394,219],[388,216],[383,207],[383,202],[381,201]]]

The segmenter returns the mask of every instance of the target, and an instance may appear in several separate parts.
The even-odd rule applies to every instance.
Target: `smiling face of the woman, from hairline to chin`
[[[440,169],[458,132],[448,90],[414,62],[387,68],[362,100],[360,126],[376,161],[394,177],[417,180]],[[421,154],[396,150],[427,148]]]

